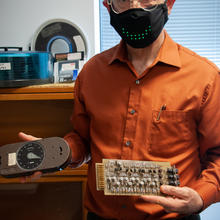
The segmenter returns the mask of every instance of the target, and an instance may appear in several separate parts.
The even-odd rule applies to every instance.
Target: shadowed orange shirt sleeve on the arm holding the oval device
[[[89,121],[84,103],[80,98],[80,79],[78,76],[74,86],[74,110],[71,116],[73,130],[64,137],[72,150],[71,166],[73,168],[90,160]]]

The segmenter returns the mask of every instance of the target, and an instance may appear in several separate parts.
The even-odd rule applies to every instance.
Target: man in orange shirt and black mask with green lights
[[[88,162],[88,219],[199,219],[220,201],[219,70],[163,29],[173,4],[104,1],[122,41],[79,74],[73,131],[65,136],[72,165]],[[180,187],[162,186],[166,197],[105,196],[95,177],[103,158],[169,161]]]

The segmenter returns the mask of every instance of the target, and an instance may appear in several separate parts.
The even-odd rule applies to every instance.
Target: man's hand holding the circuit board
[[[176,212],[190,215],[199,212],[203,207],[203,200],[200,195],[189,187],[163,185],[161,192],[167,196],[142,196],[142,198],[146,202],[163,206],[168,213]]]

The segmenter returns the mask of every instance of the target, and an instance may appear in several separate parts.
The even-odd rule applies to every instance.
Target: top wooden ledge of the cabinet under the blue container
[[[44,84],[21,88],[0,88],[0,101],[71,100],[74,83]]]

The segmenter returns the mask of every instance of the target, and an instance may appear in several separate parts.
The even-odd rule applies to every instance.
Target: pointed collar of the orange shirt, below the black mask
[[[121,62],[128,62],[128,56],[126,51],[126,45],[123,40],[115,47],[112,58],[109,60],[109,64],[113,63],[115,60],[120,60]],[[158,57],[156,58],[156,63],[162,62],[171,66],[181,67],[181,60],[178,50],[178,45],[175,43],[171,37],[165,31],[165,39],[163,45],[160,48]]]

